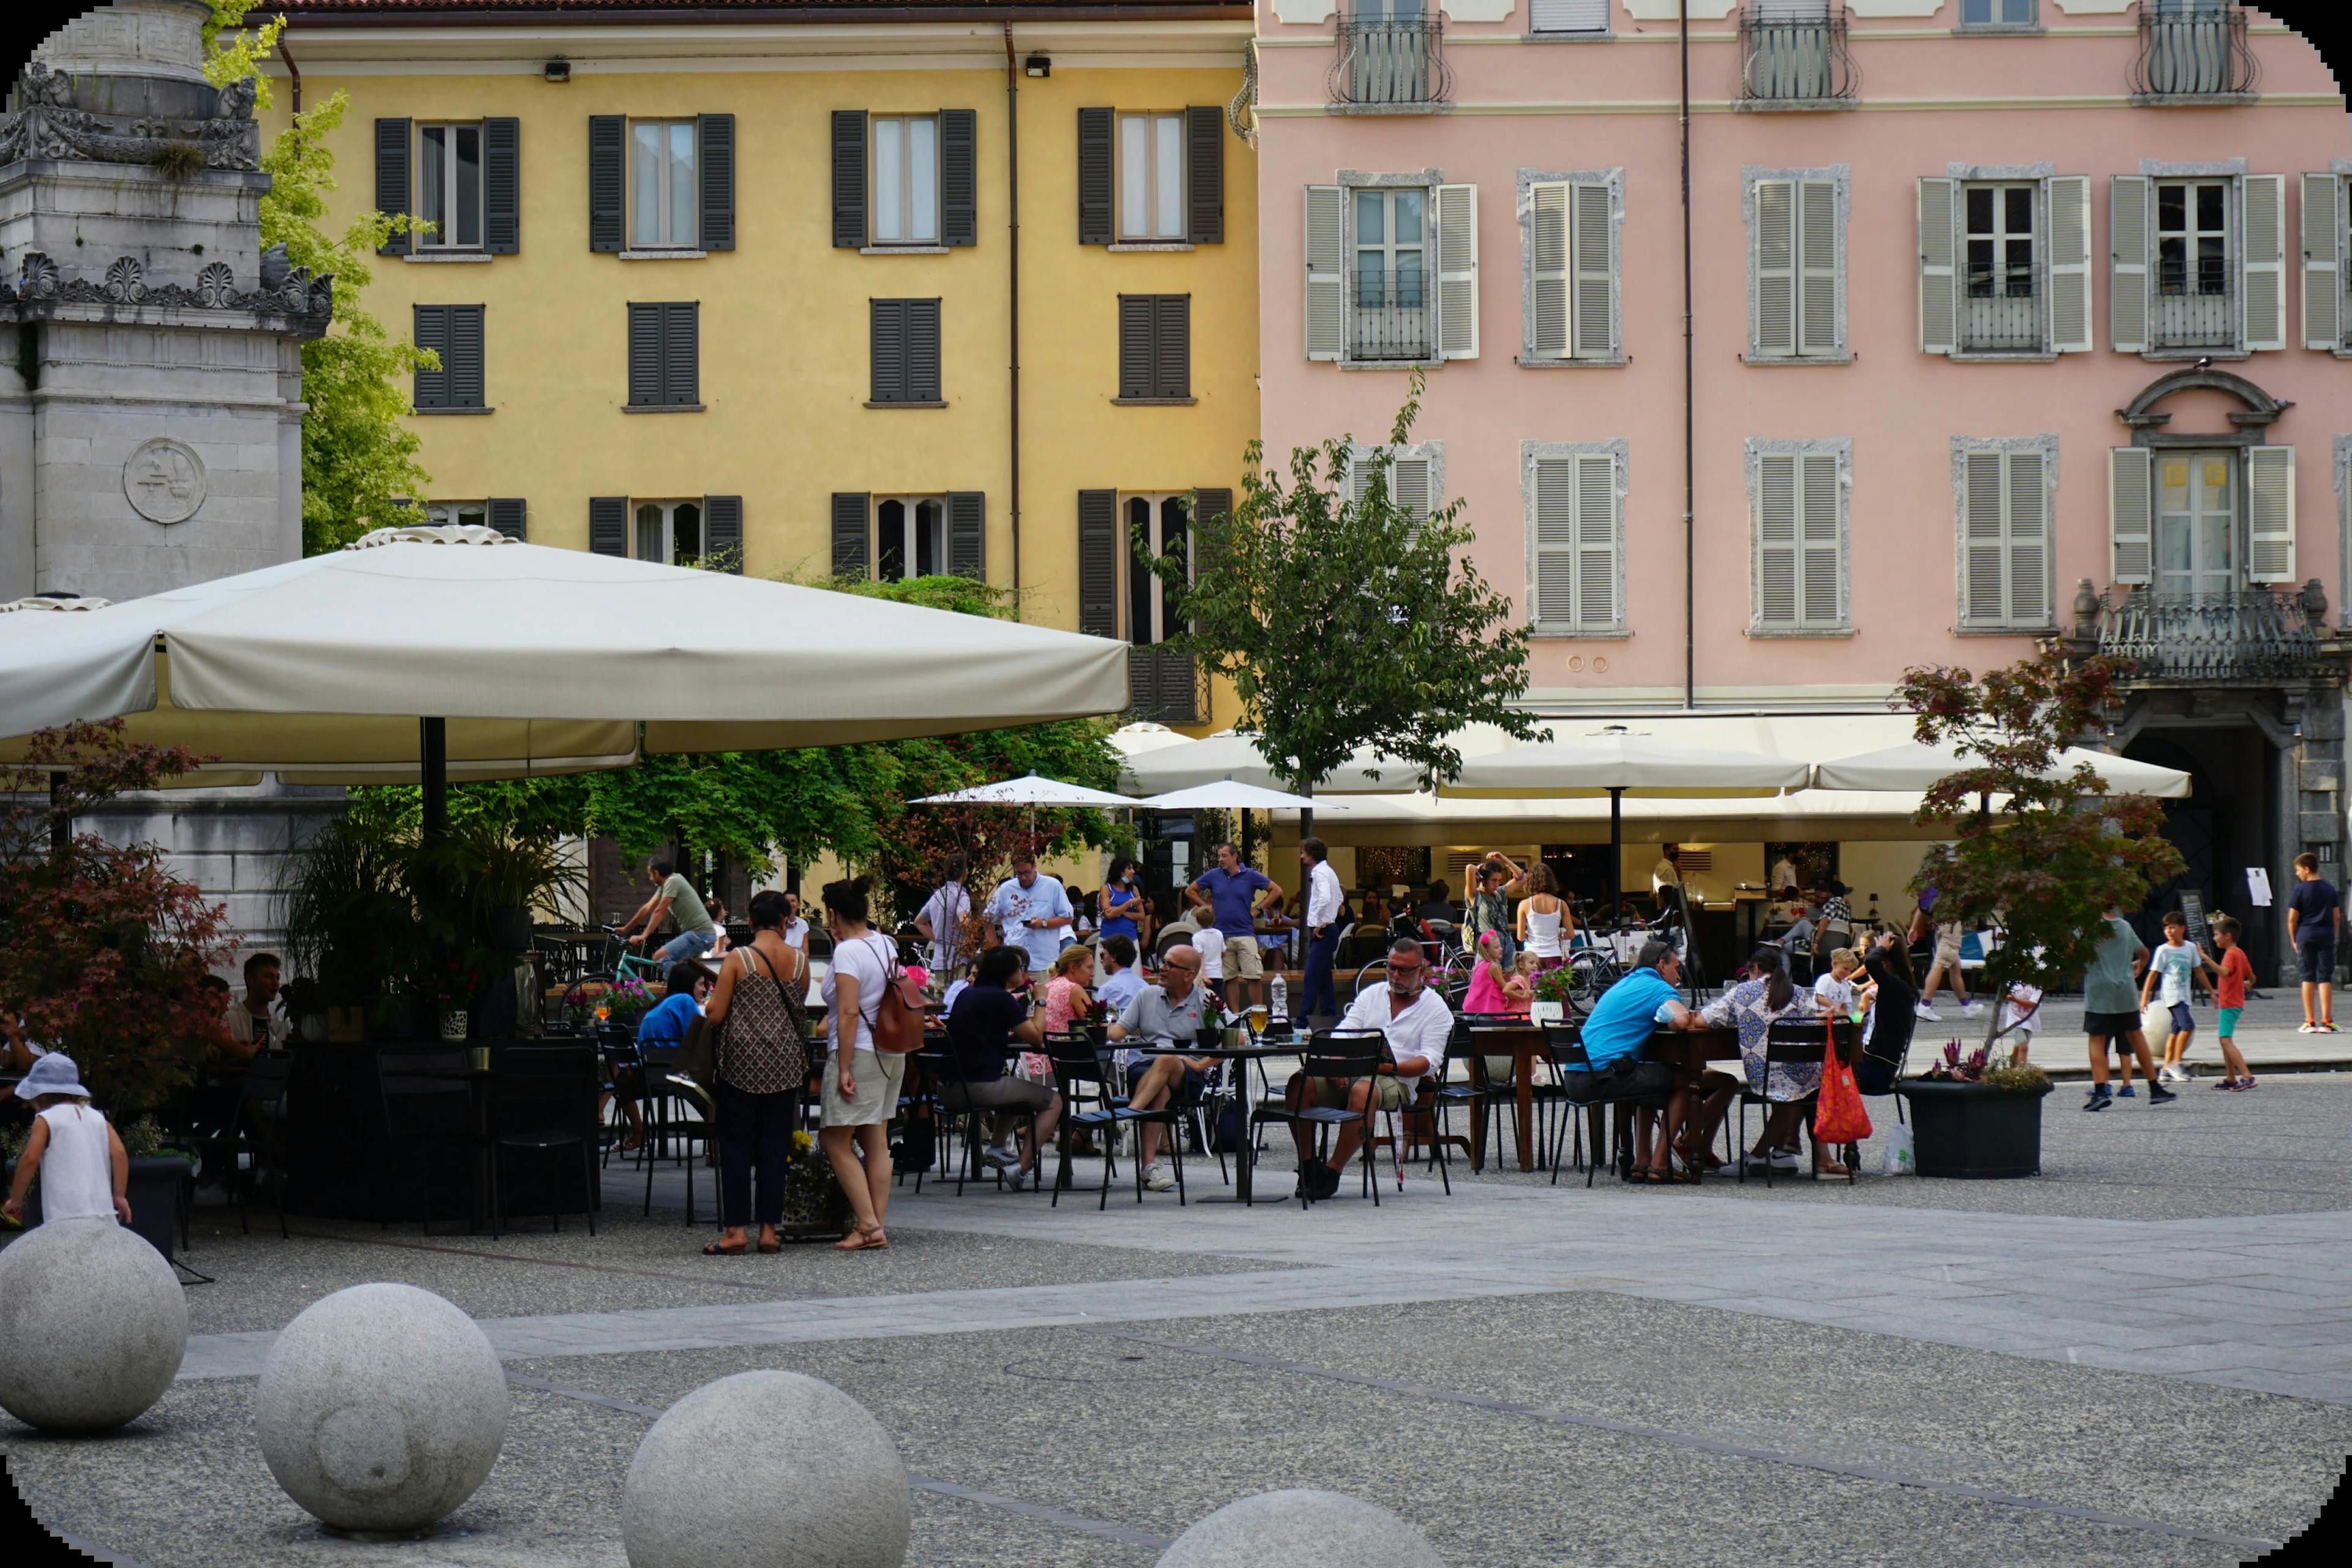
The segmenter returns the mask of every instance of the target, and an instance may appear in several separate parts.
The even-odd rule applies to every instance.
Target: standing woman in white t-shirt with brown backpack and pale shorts
[[[842,1253],[889,1246],[882,1234],[882,1211],[889,1208],[889,1119],[906,1079],[903,1056],[875,1051],[875,1011],[898,961],[898,943],[866,924],[868,886],[866,877],[826,884],[833,966],[821,994],[833,1056],[826,1058],[826,1119],[816,1140],[856,1215],[856,1229],[833,1244]]]

